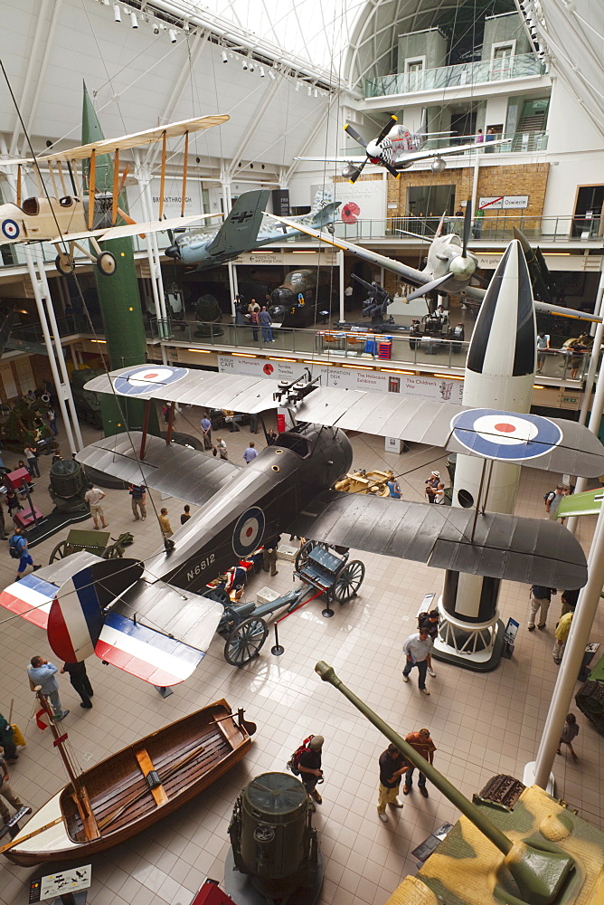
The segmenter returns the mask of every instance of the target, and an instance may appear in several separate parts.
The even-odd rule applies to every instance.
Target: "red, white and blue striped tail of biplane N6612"
[[[46,629],[61,661],[95,653],[138,679],[175,685],[203,660],[223,608],[142,574],[136,559],[82,551],[9,585],[0,605]]]

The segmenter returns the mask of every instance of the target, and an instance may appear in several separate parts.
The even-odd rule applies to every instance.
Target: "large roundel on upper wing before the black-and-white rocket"
[[[552,452],[562,440],[557,424],[537,414],[473,408],[451,421],[453,436],[470,452],[504,462],[523,462]]]

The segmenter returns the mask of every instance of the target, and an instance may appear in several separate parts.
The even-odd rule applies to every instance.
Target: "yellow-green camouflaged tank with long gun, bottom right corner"
[[[513,777],[496,777],[469,801],[346,688],[331,666],[318,662],[315,670],[462,814],[385,905],[602,905],[604,834],[596,827],[539,786],[527,788]]]

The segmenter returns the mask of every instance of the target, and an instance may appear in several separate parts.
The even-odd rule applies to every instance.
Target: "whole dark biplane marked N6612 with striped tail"
[[[528,584],[586,581],[579,542],[553,521],[331,489],[352,463],[340,428],[362,430],[368,417],[373,433],[477,455],[486,469],[489,460],[510,462],[512,450],[518,464],[604,473],[604,447],[580,424],[490,412],[492,430],[478,430],[474,415],[484,424],[484,412],[460,405],[319,386],[308,376],[276,388],[267,379],[165,365],[121,368],[87,388],[147,405],[168,401],[172,414],[167,442],[122,433],[79,452],[79,461],[200,509],[145,564],[74,554],[5,588],[0,605],[46,627],[52,650],[66,660],[96,653],[155,685],[184,681],[222,612],[203,596],[208,583],[281,533]],[[176,402],[250,414],[285,406],[297,427],[239,468],[170,442]]]

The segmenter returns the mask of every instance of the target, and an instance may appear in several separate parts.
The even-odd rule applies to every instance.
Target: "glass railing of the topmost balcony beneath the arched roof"
[[[380,98],[392,94],[416,94],[443,88],[473,87],[491,81],[526,79],[543,75],[545,64],[534,53],[502,59],[477,60],[458,63],[456,66],[439,66],[438,69],[422,69],[382,75],[365,81],[365,98]]]

